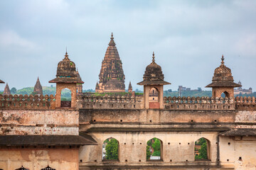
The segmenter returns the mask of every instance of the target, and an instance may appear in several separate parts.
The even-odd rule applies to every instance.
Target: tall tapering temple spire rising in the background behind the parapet
[[[100,81],[95,87],[97,93],[125,91],[125,77],[122,69],[122,61],[120,60],[115,45],[112,33],[109,46],[107,47],[104,60],[102,61],[102,67],[99,74]]]

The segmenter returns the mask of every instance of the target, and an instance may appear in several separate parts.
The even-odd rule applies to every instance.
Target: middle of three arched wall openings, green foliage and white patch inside
[[[162,149],[163,149],[163,142],[158,138],[154,137],[148,142],[146,142],[146,160],[147,161],[157,161],[162,160]]]

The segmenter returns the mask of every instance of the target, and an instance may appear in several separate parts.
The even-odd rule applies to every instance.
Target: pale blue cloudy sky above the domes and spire
[[[256,89],[254,0],[9,0],[0,8],[0,79],[10,88],[34,86],[37,77],[50,86],[67,47],[83,89],[95,89],[113,33],[126,89],[129,81],[143,89],[137,83],[153,51],[171,83],[165,90],[210,90],[222,55],[235,82]]]

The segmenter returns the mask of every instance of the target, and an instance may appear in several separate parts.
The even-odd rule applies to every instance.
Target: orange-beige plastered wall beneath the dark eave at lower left
[[[23,166],[29,170],[40,170],[50,166],[56,170],[78,170],[78,148],[76,149],[0,149],[0,169],[14,170]]]

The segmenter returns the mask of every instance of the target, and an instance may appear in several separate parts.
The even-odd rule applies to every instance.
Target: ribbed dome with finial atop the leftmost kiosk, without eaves
[[[75,63],[68,58],[68,52],[65,53],[65,58],[58,63],[56,77],[76,77],[77,72]]]

